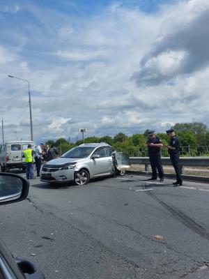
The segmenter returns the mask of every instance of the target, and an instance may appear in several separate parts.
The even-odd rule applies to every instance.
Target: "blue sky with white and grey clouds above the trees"
[[[0,23],[5,140],[30,139],[8,75],[38,143],[209,126],[208,0],[1,0]]]

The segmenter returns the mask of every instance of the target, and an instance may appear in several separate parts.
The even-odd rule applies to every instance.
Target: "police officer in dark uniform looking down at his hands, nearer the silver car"
[[[163,144],[160,138],[156,137],[154,130],[148,131],[148,140],[146,142],[146,146],[148,146],[148,156],[152,168],[152,177],[148,180],[156,180],[158,172],[160,181],[164,181],[164,172],[161,161],[161,147]]]

